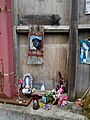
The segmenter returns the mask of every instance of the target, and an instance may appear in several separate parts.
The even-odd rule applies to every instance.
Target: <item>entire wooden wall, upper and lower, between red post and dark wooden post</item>
[[[60,69],[67,78],[69,37],[61,33],[45,34],[43,65],[27,65],[28,35],[15,32],[19,23],[18,16],[58,14],[61,17],[60,24],[69,25],[70,0],[12,0],[12,4],[15,78],[17,80],[26,72],[30,72],[35,82],[45,82],[47,89],[52,89]]]

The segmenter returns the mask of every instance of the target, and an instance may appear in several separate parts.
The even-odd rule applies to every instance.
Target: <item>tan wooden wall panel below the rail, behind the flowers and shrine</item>
[[[36,83],[45,83],[47,89],[56,87],[59,70],[67,78],[68,67],[68,35],[45,34],[44,63],[42,65],[28,65],[28,37],[19,36],[20,75],[30,72]]]

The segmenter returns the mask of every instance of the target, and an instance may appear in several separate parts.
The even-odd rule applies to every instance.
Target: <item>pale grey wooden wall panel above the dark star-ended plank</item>
[[[61,17],[60,24],[69,24],[70,0],[19,0],[18,15],[52,15]]]

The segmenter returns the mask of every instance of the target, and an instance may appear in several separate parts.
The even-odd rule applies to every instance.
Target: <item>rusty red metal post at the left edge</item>
[[[4,67],[4,94],[15,95],[11,0],[0,0],[0,59]],[[0,70],[1,71],[1,70]]]

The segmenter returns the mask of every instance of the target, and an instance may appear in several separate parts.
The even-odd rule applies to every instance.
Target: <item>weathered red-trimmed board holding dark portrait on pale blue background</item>
[[[28,64],[43,63],[44,33],[29,35]]]

